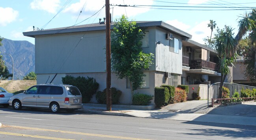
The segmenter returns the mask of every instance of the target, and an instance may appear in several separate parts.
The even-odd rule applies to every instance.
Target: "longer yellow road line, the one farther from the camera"
[[[142,139],[142,138],[129,138],[129,137],[122,137],[122,136],[102,135],[102,134],[79,133],[79,132],[61,131],[61,130],[52,130],[52,129],[40,129],[40,128],[32,128],[32,127],[20,127],[20,126],[8,126],[8,127],[41,130],[41,131],[51,131],[51,132],[61,132],[61,133],[69,133],[69,134],[81,134],[81,135],[87,135],[87,136],[99,136],[99,137],[106,137],[106,138],[119,138],[119,139],[127,139],[127,140],[148,140],[148,139]]]

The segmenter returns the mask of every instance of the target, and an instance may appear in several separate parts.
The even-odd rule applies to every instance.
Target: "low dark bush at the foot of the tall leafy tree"
[[[149,105],[153,97],[153,95],[136,93],[133,95],[133,105]]]

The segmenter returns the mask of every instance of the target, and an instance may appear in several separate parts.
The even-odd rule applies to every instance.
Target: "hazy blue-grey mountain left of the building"
[[[28,41],[13,41],[3,39],[0,52],[3,56],[6,66],[12,73],[12,60],[7,54],[13,57],[14,79],[21,79],[28,73],[35,72],[35,45]]]

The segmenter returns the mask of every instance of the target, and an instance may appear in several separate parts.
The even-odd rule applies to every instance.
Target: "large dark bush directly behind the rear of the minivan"
[[[92,77],[72,77],[67,75],[62,77],[63,84],[76,86],[82,94],[82,102],[88,103],[91,101],[92,95],[96,93],[99,88],[99,83]]]

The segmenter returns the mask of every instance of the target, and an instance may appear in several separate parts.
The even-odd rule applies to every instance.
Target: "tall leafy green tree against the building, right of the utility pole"
[[[111,32],[112,70],[116,72],[118,78],[130,80],[131,102],[133,91],[141,87],[144,82],[143,70],[149,69],[153,64],[153,54],[142,52],[144,35],[145,33],[136,26],[136,22],[129,22],[124,15],[116,19]]]

